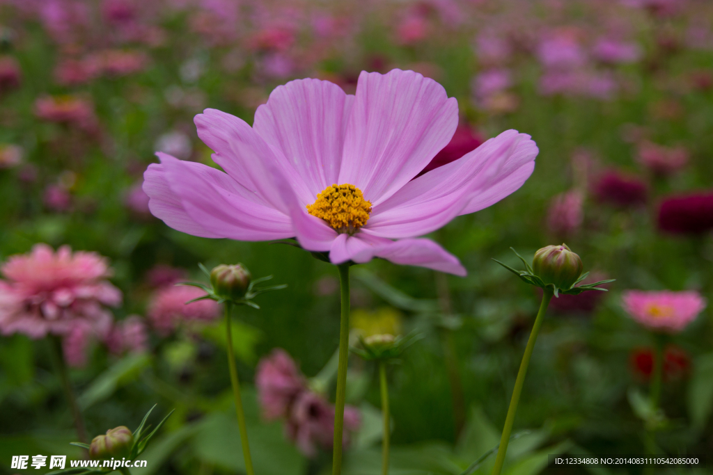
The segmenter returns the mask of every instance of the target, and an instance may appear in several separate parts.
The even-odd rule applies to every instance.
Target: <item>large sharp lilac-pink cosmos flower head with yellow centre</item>
[[[508,130],[416,177],[453,137],[458,105],[413,71],[362,72],[356,95],[294,80],[272,91],[253,127],[212,109],[195,123],[226,173],[157,154],[143,189],[151,212],[174,229],[242,241],[296,237],[304,249],[329,251],[332,263],[381,257],[461,276],[455,256],[416,236],[515,192],[538,154],[529,135]]]

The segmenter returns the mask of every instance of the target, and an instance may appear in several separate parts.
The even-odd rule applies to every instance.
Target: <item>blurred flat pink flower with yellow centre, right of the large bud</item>
[[[696,291],[625,291],[624,310],[651,330],[679,333],[706,307]]]

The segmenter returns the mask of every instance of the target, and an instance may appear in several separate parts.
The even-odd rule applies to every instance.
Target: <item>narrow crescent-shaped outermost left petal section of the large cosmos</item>
[[[170,157],[170,155],[160,155]],[[183,203],[180,201],[180,197],[178,197],[178,194],[175,194],[169,186],[168,174],[162,164],[153,163],[148,166],[148,169],[146,169],[143,174],[143,191],[145,194],[148,194],[148,209],[150,209],[151,214],[173,229],[186,234],[192,234],[193,236],[207,238],[222,237],[203,228],[203,226],[188,216],[188,213],[183,207]]]

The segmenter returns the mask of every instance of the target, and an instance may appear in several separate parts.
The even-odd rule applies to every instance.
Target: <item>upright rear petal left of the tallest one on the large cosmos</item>
[[[287,157],[312,192],[309,203],[337,183],[352,103],[336,84],[300,79],[275,88],[255,112],[252,127]]]

